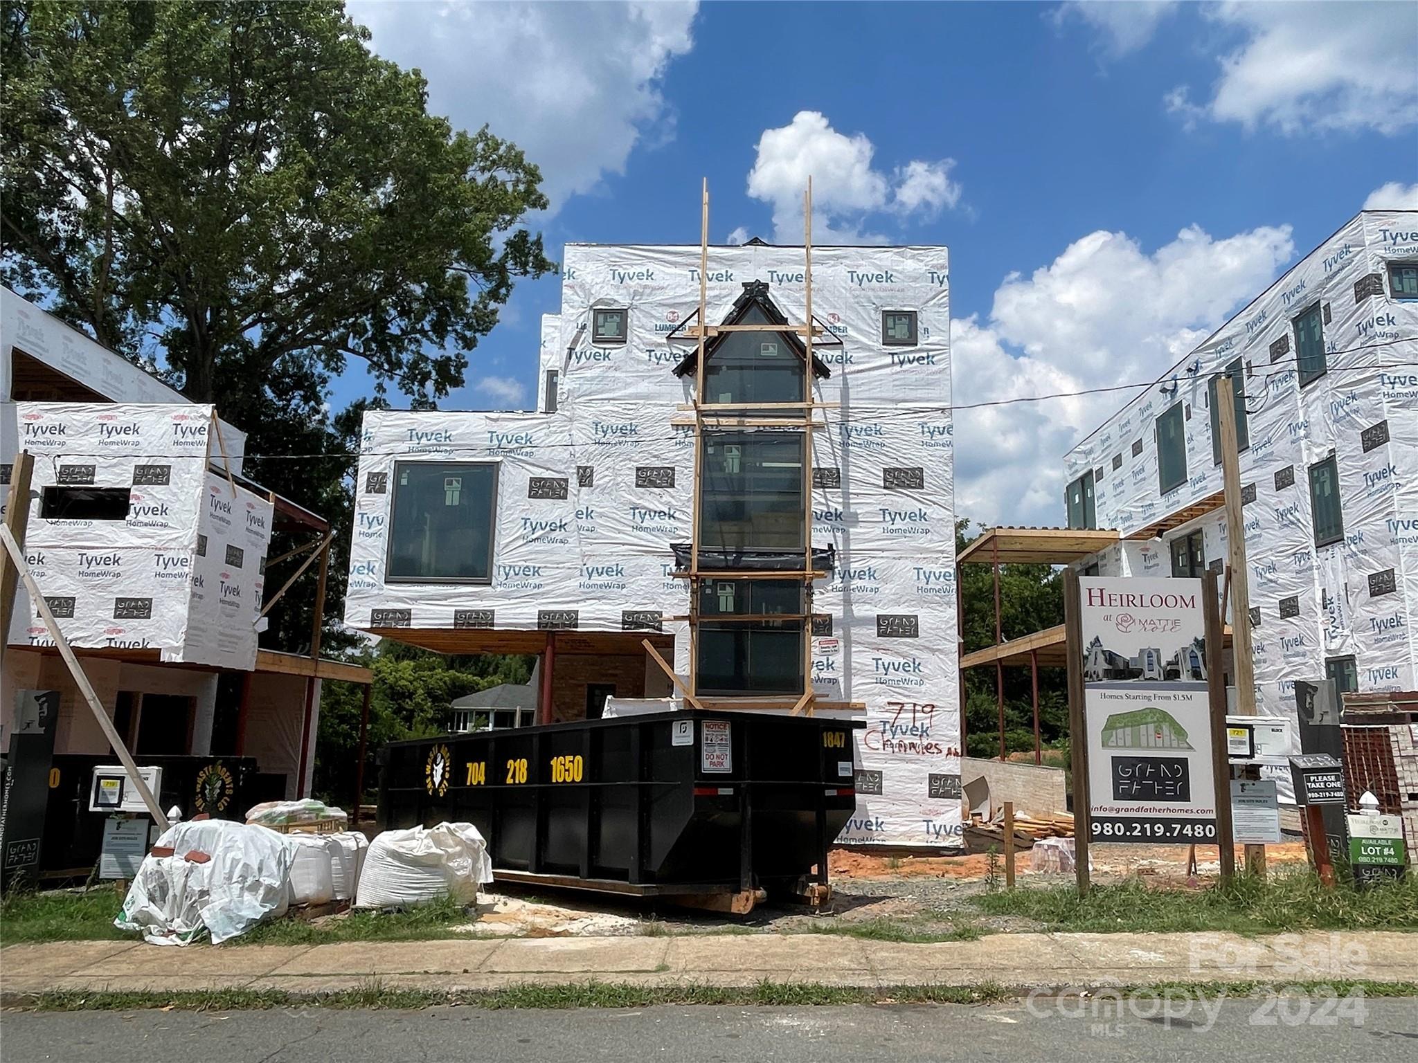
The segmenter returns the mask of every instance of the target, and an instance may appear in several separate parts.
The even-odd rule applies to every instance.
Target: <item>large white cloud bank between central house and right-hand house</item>
[[[1098,231],[1032,275],[998,286],[987,322],[951,322],[954,401],[1075,393],[1150,381],[1290,259],[1288,225],[1214,240],[1197,227],[1146,252]],[[1136,391],[956,412],[956,512],[1056,524],[1064,454]]]

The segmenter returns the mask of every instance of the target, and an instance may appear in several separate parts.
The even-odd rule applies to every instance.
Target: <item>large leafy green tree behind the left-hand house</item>
[[[30,0],[0,27],[0,279],[216,401],[248,452],[302,455],[250,473],[336,522],[332,374],[432,405],[513,281],[554,268],[523,225],[536,166],[430,115],[337,0]],[[309,614],[288,626],[308,641]]]

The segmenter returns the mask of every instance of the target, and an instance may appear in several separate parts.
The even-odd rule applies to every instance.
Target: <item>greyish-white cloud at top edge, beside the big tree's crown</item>
[[[624,173],[641,137],[664,142],[665,69],[693,47],[695,3],[393,3],[352,0],[374,50],[428,79],[430,109],[484,123],[542,167],[557,210]]]

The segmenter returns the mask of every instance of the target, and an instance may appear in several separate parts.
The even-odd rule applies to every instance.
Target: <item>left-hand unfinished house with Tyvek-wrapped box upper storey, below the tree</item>
[[[140,763],[247,755],[267,792],[308,794],[320,680],[369,673],[259,649],[258,618],[272,534],[328,523],[241,476],[245,437],[213,407],[4,288],[0,325],[0,506],[23,446],[28,567],[115,729]],[[16,692],[40,689],[61,694],[55,754],[112,755],[23,587],[3,670],[0,751]]]

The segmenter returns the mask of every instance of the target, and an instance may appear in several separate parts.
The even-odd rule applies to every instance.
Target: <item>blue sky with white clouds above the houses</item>
[[[1414,4],[350,11],[542,166],[554,258],[698,242],[702,177],[715,240],[798,240],[808,171],[820,242],[947,244],[957,404],[1150,378],[1366,203],[1418,207]],[[442,405],[530,403],[557,305],[523,283]],[[1113,404],[959,414],[957,512],[1056,523],[1059,459]]]

